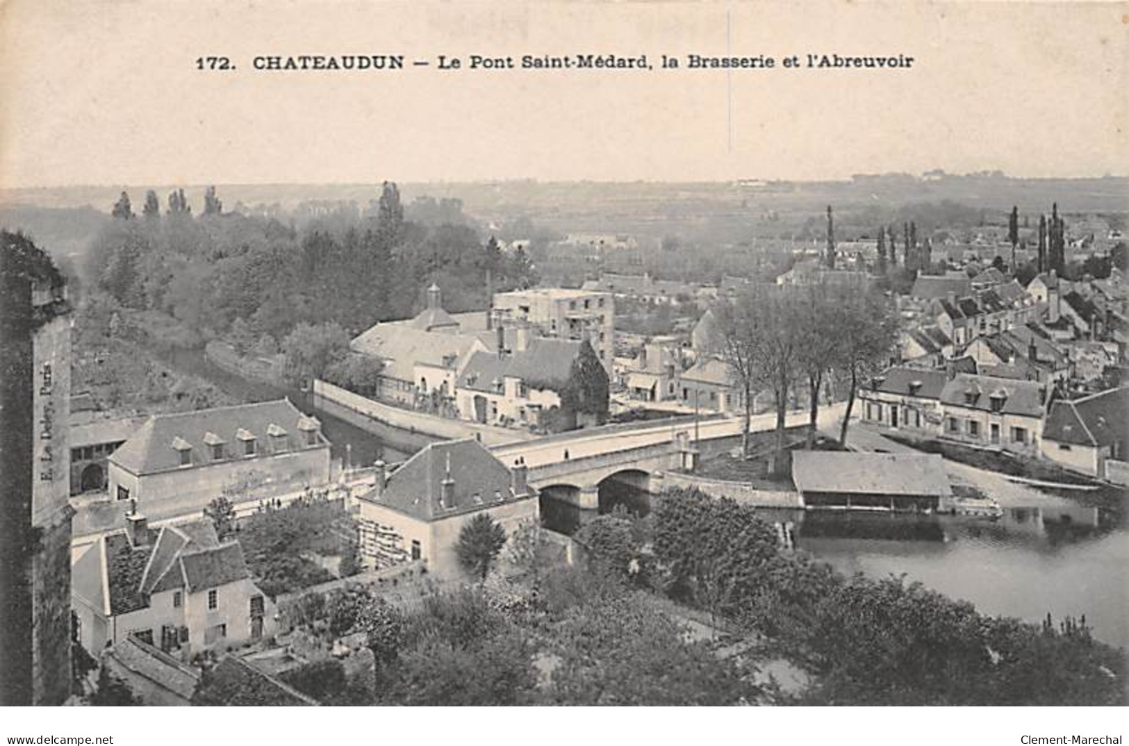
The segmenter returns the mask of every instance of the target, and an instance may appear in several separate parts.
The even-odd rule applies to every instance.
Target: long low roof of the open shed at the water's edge
[[[936,454],[797,450],[791,479],[800,493],[948,497],[945,460]]]

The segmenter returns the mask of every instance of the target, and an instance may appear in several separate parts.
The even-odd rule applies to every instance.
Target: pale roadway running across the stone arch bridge
[[[833,404],[820,410],[819,424],[821,428],[831,427],[842,418],[843,404]],[[806,424],[808,413],[806,411],[789,412],[786,423],[789,428]],[[776,413],[767,412],[755,415],[750,422],[750,430],[763,432],[776,427]],[[742,418],[730,416],[701,421],[698,425],[698,438],[700,440],[715,440],[717,438],[728,438],[739,436],[742,430]],[[644,446],[654,446],[663,442],[671,442],[675,436],[684,432],[689,438],[694,437],[694,423],[692,420],[679,421],[675,423],[665,422],[663,424],[639,423],[639,427],[624,428],[623,425],[611,425],[596,428],[590,431],[552,436],[539,438],[520,444],[508,444],[497,446],[491,450],[506,464],[513,464],[518,457],[525,458],[527,466],[544,466],[564,460],[564,453],[568,458],[584,458],[585,456],[598,456],[619,450],[629,450]]]

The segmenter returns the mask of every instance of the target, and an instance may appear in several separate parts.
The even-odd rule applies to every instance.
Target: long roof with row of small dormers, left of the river
[[[268,455],[272,453],[274,446],[266,435],[268,428],[272,424],[288,432],[286,450],[300,450],[310,447],[299,437],[298,424],[304,420],[307,420],[306,415],[286,398],[178,414],[156,414],[122,444],[110,456],[110,460],[132,474],[154,474],[180,468],[181,456],[173,446],[174,441],[180,439],[183,441],[180,444],[182,447],[183,444],[192,447],[190,457],[193,465],[209,464],[213,462],[211,448],[204,440],[209,432],[218,435],[220,440],[226,441],[225,459],[242,458],[243,454],[238,450],[239,444],[236,438],[236,431],[240,428],[257,439],[257,454]],[[327,445],[329,441],[318,436],[318,447]]]

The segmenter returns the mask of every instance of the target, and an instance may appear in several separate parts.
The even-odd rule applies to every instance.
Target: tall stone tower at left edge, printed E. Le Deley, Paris
[[[70,305],[51,258],[0,232],[0,702],[70,694]]]

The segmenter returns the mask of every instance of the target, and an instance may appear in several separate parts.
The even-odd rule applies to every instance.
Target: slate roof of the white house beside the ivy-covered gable
[[[520,378],[533,388],[560,390],[568,383],[572,360],[580,353],[580,342],[535,337],[524,350],[499,356],[475,352],[458,377],[460,388],[493,393],[493,381]]]

